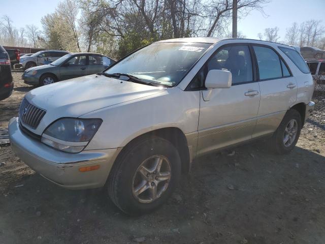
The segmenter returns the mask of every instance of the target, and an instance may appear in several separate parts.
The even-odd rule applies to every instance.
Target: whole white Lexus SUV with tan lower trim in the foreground
[[[193,158],[267,137],[293,150],[313,80],[292,47],[184,38],[146,46],[105,72],[31,90],[9,122],[14,152],[69,189],[106,187],[128,214],[170,196]]]

